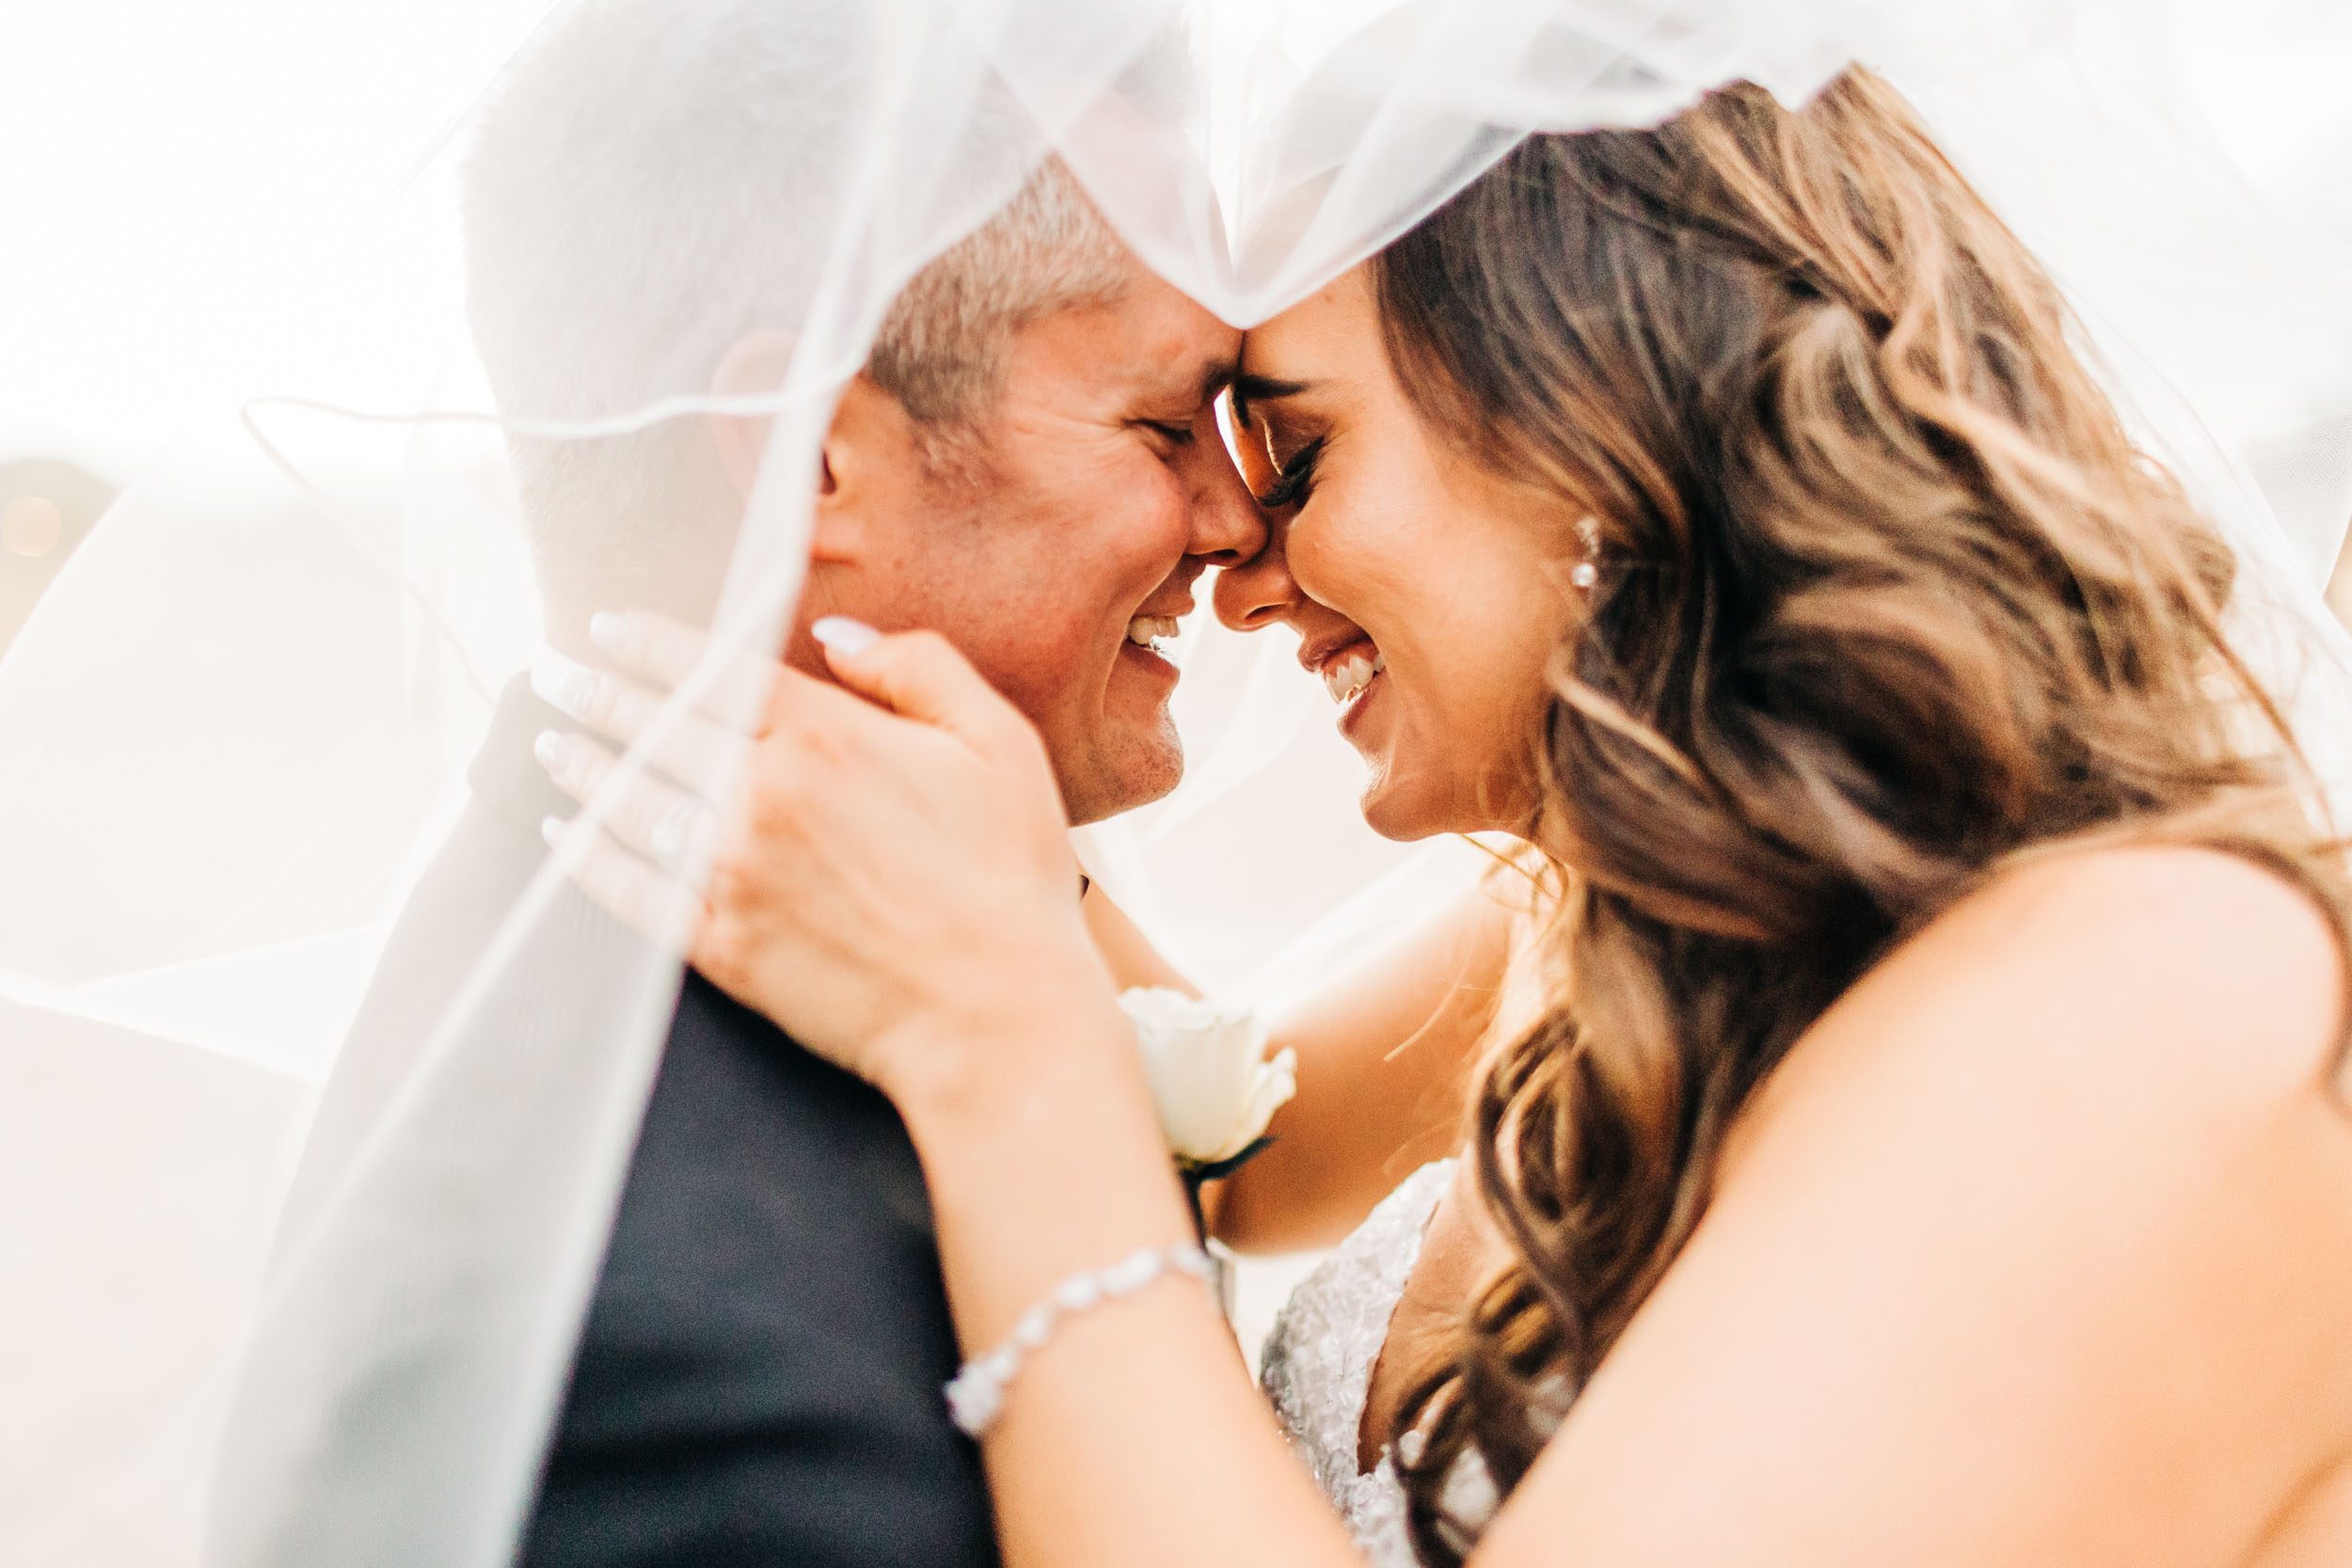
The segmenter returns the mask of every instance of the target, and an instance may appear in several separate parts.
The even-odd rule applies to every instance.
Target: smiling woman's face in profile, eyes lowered
[[[1576,614],[1573,520],[1421,421],[1362,268],[1249,331],[1235,393],[1272,529],[1218,578],[1218,616],[1298,632],[1369,766],[1374,830],[1519,832],[1545,665]]]

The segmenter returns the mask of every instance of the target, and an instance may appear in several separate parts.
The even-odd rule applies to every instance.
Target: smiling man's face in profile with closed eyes
[[[1037,724],[1073,823],[1183,776],[1176,665],[1136,637],[1265,538],[1211,407],[1237,353],[1141,263],[1117,301],[1033,322],[974,456],[920,487],[873,583],[870,618],[943,632]]]

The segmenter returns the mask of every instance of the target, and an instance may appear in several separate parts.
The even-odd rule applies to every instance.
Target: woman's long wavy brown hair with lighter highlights
[[[1675,1260],[1724,1131],[1893,943],[2100,835],[2251,853],[2345,929],[2234,562],[1905,101],[1738,85],[1536,136],[1374,263],[1399,378],[1599,527],[1536,736],[1548,1016],[1475,1093],[1510,1262],[1397,1432],[1414,1535],[1501,1490]]]

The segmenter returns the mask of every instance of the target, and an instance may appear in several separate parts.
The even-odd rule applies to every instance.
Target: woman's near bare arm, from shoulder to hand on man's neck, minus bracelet
[[[1190,1227],[1035,731],[936,639],[837,668],[915,722],[786,677],[694,957],[901,1107],[985,1354]],[[656,820],[612,816],[640,853]],[[621,912],[670,886],[567,856]],[[2154,849],[1999,879],[1757,1093],[1472,1568],[2340,1561],[2340,1039],[2333,933],[2263,867]],[[1359,1568],[1181,1276],[1068,1316],[983,1458],[1011,1568]]]

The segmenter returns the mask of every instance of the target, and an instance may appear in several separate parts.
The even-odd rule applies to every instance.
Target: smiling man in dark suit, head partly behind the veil
[[[729,12],[724,26],[701,26],[713,12]],[[797,301],[762,303],[760,289],[790,294],[802,266],[807,141],[769,125],[748,143],[743,120],[703,106],[762,101],[788,120],[823,71],[802,12],[706,0],[689,14],[713,45],[696,49],[673,28],[675,5],[607,0],[513,68],[463,188],[468,313],[503,409],[572,416],[776,383]],[[600,68],[614,63],[626,68]],[[600,240],[583,249],[581,235]],[[691,254],[677,235],[696,235]],[[663,296],[647,299],[649,277],[670,280]],[[630,334],[595,324],[640,313],[713,331],[647,346],[633,378]],[[807,625],[828,614],[929,625],[1037,724],[1073,823],[1171,790],[1176,672],[1143,644],[1192,607],[1209,564],[1263,541],[1211,411],[1237,348],[1047,162],[903,289],[844,388],[786,658],[823,670]],[[682,362],[696,386],[654,381]],[[569,809],[541,769],[560,766],[560,748],[539,736],[593,701],[590,614],[710,614],[764,433],[755,416],[694,416],[621,440],[513,442],[548,637],[579,663],[543,661],[501,701],[473,804],[407,905],[325,1093],[308,1157],[320,1168],[296,1185],[294,1225],[332,1225],[310,1206],[334,1187],[334,1150],[365,1135],[449,994],[435,959],[407,954],[480,952],[468,933],[487,940],[541,865],[541,820]],[[579,907],[557,931],[600,919],[564,898]],[[567,1006],[581,1004],[534,994],[510,1013],[543,1027]],[[891,1107],[689,973],[520,1561],[993,1563],[978,1458],[943,1401],[955,1361],[922,1171]],[[369,1441],[327,1446],[360,1455],[343,1465],[358,1469]],[[430,1530],[402,1535],[416,1521],[397,1507],[355,1528],[329,1519],[336,1502],[310,1502],[334,1495],[306,1488],[322,1523],[280,1528],[240,1561],[341,1566],[303,1542],[353,1537],[365,1561],[428,1549]]]

